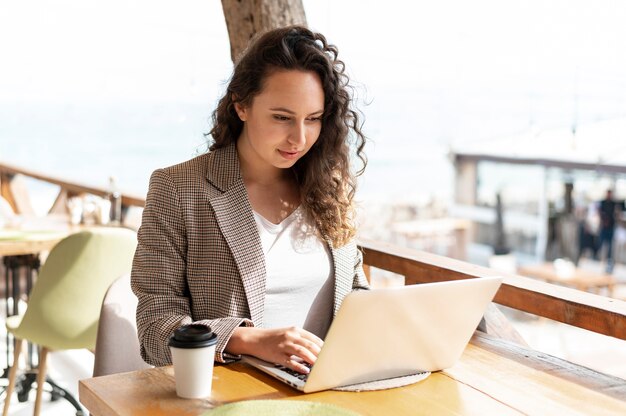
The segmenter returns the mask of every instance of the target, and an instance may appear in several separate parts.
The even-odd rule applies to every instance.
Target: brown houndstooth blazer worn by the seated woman
[[[170,364],[168,338],[190,323],[217,333],[216,361],[237,359],[224,348],[235,328],[263,322],[265,258],[235,145],[156,170],[138,240],[131,282],[143,359]],[[331,255],[336,313],[367,281],[354,243]]]

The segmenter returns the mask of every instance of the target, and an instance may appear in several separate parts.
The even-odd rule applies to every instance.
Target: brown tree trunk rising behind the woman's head
[[[260,32],[289,25],[306,26],[302,0],[222,0],[233,62]]]

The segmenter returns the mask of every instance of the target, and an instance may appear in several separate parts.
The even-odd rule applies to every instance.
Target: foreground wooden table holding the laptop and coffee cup
[[[363,415],[624,415],[626,381],[477,332],[461,360],[406,387],[302,394],[245,364],[217,366],[207,400],[176,396],[171,367],[79,382],[94,416],[200,415],[240,400],[309,400]]]

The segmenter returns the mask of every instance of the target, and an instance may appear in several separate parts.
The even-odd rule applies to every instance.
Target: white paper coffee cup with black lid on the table
[[[169,340],[176,394],[185,399],[200,399],[211,395],[213,360],[217,334],[205,325],[185,325]]]

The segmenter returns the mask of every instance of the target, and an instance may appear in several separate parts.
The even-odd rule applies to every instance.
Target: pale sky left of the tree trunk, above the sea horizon
[[[2,2],[1,99],[198,100],[194,79],[228,76],[226,36],[214,0]]]

